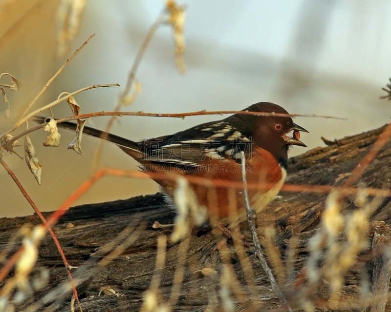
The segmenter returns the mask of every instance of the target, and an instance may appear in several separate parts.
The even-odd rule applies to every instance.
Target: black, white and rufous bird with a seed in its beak
[[[132,141],[94,128],[84,127],[83,133],[102,137],[115,143],[126,154],[140,163],[140,170],[149,174],[175,173],[221,181],[241,182],[241,152],[246,159],[248,183],[270,183],[272,188],[249,189],[251,208],[257,213],[275,198],[286,178],[288,150],[292,145],[306,147],[299,132],[307,132],[291,117],[273,116],[288,114],[281,106],[259,102],[242,111],[271,113],[270,116],[234,114],[230,117],[202,123],[172,135]],[[44,118],[41,117],[41,120]],[[75,130],[75,123],[65,121],[58,127]],[[293,131],[293,137],[287,134]],[[177,187],[175,179],[155,179],[169,203],[173,203]],[[246,219],[242,190],[192,184],[198,204],[203,205],[218,219],[230,217],[229,200],[236,198],[239,221]]]

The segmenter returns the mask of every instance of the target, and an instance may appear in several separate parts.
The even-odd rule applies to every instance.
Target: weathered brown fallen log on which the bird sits
[[[341,140],[325,140],[328,146],[292,157],[286,183],[334,185],[338,190],[384,128]],[[387,188],[390,177],[389,142],[356,186]],[[373,209],[369,230],[364,231],[368,246],[357,252],[345,271],[341,271],[341,268],[345,268],[342,260],[348,259],[342,256],[344,249],[334,255],[336,263],[340,261],[336,267],[341,271],[338,274],[343,277],[335,294],[336,279],[330,272],[337,269],[326,266],[332,252],[331,245],[328,246],[326,241],[319,242],[316,263],[312,267],[309,264],[311,259],[315,259],[315,243],[310,245],[309,241],[320,233],[318,229],[327,195],[281,192],[265,211],[257,215],[262,249],[284,296],[294,310],[300,311],[315,308],[316,311],[357,311],[365,308],[367,311],[391,311],[388,305],[390,197],[380,198]],[[355,196],[349,195],[341,204],[341,215],[346,218],[344,220],[354,221],[348,216],[364,210],[363,207],[357,203]],[[66,212],[53,230],[70,265],[79,266],[71,272],[76,281],[80,281],[77,290],[84,312],[139,311],[143,296],[151,286],[152,276],[157,273],[160,274],[157,302],[159,305],[172,304],[173,311],[283,311],[276,295],[270,290],[270,283],[259,260],[254,256],[251,234],[245,223],[240,225],[243,235],[241,247],[228,239],[222,250],[213,251],[216,236],[208,228],[201,228],[191,236],[186,241],[185,249],[184,242],[171,244],[168,241],[164,265],[156,271],[157,238],[162,234],[169,237],[172,230],[152,229],[152,224],[155,221],[173,223],[175,214],[172,208],[164,204],[161,194],[83,205]],[[44,215],[48,216],[49,213]],[[36,215],[0,219],[2,250],[23,224],[35,225],[40,222]],[[343,245],[350,239],[348,223],[345,222],[337,231],[338,237],[335,245],[332,245],[335,248],[349,246]],[[129,224],[134,226],[129,229]],[[335,226],[338,227],[338,224]],[[121,243],[129,245],[125,246],[122,254],[108,255]],[[17,248],[18,245],[14,246],[13,251]],[[186,253],[183,254],[183,250]],[[225,261],[227,258],[228,263]],[[71,291],[65,286],[61,288],[67,282],[67,273],[49,235],[39,247],[38,267],[48,269],[47,286],[34,292],[16,306],[16,310],[69,311]],[[179,278],[180,268],[183,269],[183,278],[177,283],[174,276]],[[319,278],[315,278],[315,282],[309,272],[311,268],[319,270],[316,271]],[[331,268],[330,271],[327,268]],[[99,296],[104,288],[106,290]],[[75,309],[78,310],[77,304]]]

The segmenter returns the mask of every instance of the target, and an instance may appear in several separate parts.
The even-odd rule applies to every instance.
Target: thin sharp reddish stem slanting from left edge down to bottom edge
[[[61,254],[61,258],[63,259],[64,265],[65,265],[66,273],[68,273],[69,280],[70,280],[71,285],[72,285],[72,288],[73,288],[73,295],[74,295],[74,297],[75,297],[76,300],[77,300],[77,303],[78,303],[78,305],[79,305],[80,310],[83,312],[82,307],[81,307],[81,305],[80,305],[79,297],[78,297],[78,295],[77,295],[75,283],[74,283],[74,281],[73,281],[72,274],[70,273],[69,263],[68,263],[68,261],[66,260],[64,251],[63,251],[63,249],[62,249],[62,247],[61,247],[61,244],[60,244],[59,240],[57,239],[56,234],[54,234],[52,228],[47,224],[47,221],[46,221],[45,217],[42,215],[42,213],[40,212],[40,210],[38,209],[38,207],[35,205],[35,203],[33,202],[33,200],[30,198],[30,196],[27,194],[27,192],[24,190],[24,188],[23,188],[21,182],[20,182],[19,179],[15,176],[15,174],[12,172],[11,168],[8,167],[8,165],[5,163],[5,161],[4,161],[3,159],[1,159],[1,158],[0,158],[0,164],[4,167],[4,169],[8,172],[8,174],[12,177],[12,179],[14,180],[14,182],[16,183],[16,185],[17,185],[17,186],[19,187],[19,189],[21,190],[23,196],[27,199],[27,201],[28,201],[28,203],[30,204],[30,206],[34,209],[34,211],[36,212],[36,214],[41,218],[43,224],[45,225],[45,227],[47,228],[47,230],[48,230],[48,231],[50,232],[50,234],[52,235],[53,240],[54,240],[54,243],[56,244],[57,249],[58,249],[59,253]]]

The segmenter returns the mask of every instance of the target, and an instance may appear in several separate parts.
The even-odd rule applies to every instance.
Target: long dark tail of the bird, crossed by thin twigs
[[[40,123],[43,123],[45,119],[46,119],[45,117],[34,117],[34,120],[37,122],[40,122]],[[76,130],[77,124],[73,123],[73,122],[69,122],[69,121],[64,121],[64,122],[58,123],[57,127]],[[93,137],[104,138],[110,142],[113,142],[113,143],[119,145],[119,147],[121,147],[121,148],[126,147],[126,148],[130,148],[131,150],[134,150],[137,152],[140,150],[140,145],[138,142],[129,140],[124,137],[118,137],[118,136],[112,135],[112,134],[105,132],[105,131],[101,131],[101,130],[90,128],[90,127],[84,127],[83,133],[90,135],[90,136],[93,136]]]

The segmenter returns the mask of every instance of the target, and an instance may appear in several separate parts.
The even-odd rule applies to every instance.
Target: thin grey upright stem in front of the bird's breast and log
[[[267,278],[269,279],[269,282],[271,284],[273,292],[277,295],[277,297],[280,300],[280,303],[284,307],[286,311],[292,312],[292,309],[289,307],[288,302],[284,298],[280,288],[277,285],[277,282],[273,276],[272,270],[269,268],[267,265],[267,262],[262,254],[261,250],[261,244],[258,239],[258,234],[257,230],[255,228],[255,220],[256,220],[256,213],[253,209],[250,207],[250,200],[248,198],[248,191],[247,191],[247,177],[246,177],[246,158],[244,155],[244,152],[241,152],[241,168],[242,168],[242,179],[243,179],[243,202],[244,202],[244,207],[246,208],[246,215],[247,215],[247,221],[248,221],[248,226],[250,228],[251,235],[253,236],[253,242],[255,246],[255,251],[258,256],[258,258],[261,261],[261,265],[263,268],[263,271],[265,271]]]

